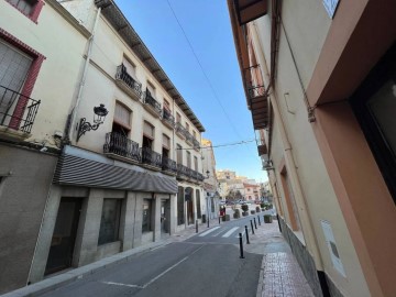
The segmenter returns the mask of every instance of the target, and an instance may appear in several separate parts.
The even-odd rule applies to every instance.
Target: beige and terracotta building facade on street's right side
[[[282,232],[316,296],[393,296],[396,3],[254,6],[229,1]]]

